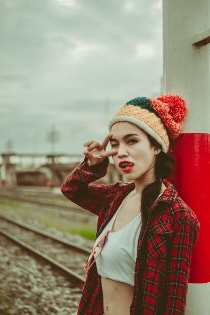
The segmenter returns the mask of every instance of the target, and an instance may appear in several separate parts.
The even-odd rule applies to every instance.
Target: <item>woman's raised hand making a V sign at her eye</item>
[[[109,133],[101,144],[97,141],[87,141],[83,144],[84,146],[87,146],[83,154],[89,160],[89,166],[98,165],[104,159],[106,159],[106,157],[115,155],[117,153],[117,151],[114,149],[111,151],[106,151],[106,147],[112,136],[112,133]]]

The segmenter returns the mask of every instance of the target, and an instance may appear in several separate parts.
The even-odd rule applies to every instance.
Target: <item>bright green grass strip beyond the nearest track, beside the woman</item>
[[[63,232],[81,235],[83,238],[88,239],[88,240],[94,241],[95,239],[96,228],[93,228],[92,226],[87,225],[87,224],[73,226],[73,227],[63,227],[58,223],[50,222],[44,219],[38,219],[38,221],[46,226],[57,228]]]

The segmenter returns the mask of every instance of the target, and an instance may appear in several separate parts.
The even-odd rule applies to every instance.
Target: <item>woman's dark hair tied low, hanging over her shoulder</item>
[[[145,133],[151,143],[151,145],[155,146],[157,149],[162,149],[162,146],[149,134]],[[142,191],[142,199],[141,199],[141,215],[142,215],[142,226],[140,235],[142,235],[145,231],[147,222],[150,221],[152,210],[150,207],[154,204],[158,195],[161,191],[162,182],[159,179],[165,179],[168,177],[172,170],[173,164],[175,160],[174,158],[163,152],[157,154],[156,163],[155,163],[155,177],[156,181],[146,186]]]

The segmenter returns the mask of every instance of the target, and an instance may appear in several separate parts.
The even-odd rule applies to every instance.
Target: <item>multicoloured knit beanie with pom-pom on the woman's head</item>
[[[167,153],[169,139],[180,134],[187,111],[185,101],[178,95],[166,94],[156,99],[137,97],[120,108],[108,128],[111,132],[115,123],[131,122],[152,136]]]

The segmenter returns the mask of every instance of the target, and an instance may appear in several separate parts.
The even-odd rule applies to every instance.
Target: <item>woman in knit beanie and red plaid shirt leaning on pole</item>
[[[180,96],[136,98],[113,116],[101,144],[84,143],[84,161],[61,187],[98,216],[78,315],[184,314],[200,224],[165,178],[174,162],[169,142],[186,114]],[[90,184],[107,174],[110,156],[130,182]]]

